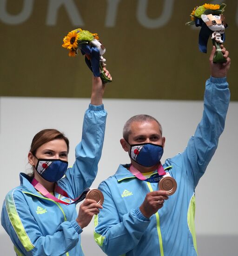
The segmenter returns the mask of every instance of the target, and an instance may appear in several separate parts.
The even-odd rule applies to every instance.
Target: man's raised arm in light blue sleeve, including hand
[[[195,134],[190,138],[188,146],[182,153],[185,159],[187,176],[194,184],[198,184],[200,177],[210,162],[218,146],[218,139],[225,127],[225,117],[230,101],[230,91],[226,82],[226,75],[231,65],[228,51],[222,47],[227,62],[213,63],[216,48],[213,46],[209,58],[211,77],[206,81],[204,95],[203,117]]]

